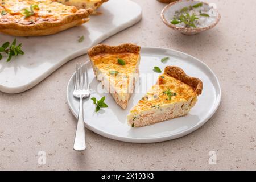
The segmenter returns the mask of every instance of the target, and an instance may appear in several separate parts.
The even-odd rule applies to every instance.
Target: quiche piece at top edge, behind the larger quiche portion
[[[91,8],[95,11],[98,7],[100,7],[104,2],[107,2],[108,0],[53,0],[53,1],[57,1],[68,6],[75,6],[77,7],[77,9]]]

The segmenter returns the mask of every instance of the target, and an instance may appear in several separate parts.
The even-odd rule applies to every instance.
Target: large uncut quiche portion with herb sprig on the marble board
[[[51,0],[0,0],[0,32],[13,36],[55,34],[87,22],[92,12]]]

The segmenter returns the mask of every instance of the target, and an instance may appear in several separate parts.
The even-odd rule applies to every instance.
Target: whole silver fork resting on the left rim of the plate
[[[74,150],[83,151],[86,148],[85,144],[85,129],[84,129],[84,110],[83,110],[83,99],[90,96],[90,86],[87,71],[87,64],[76,65],[76,77],[75,77],[75,88],[73,96],[80,98],[79,106],[79,117],[76,128],[76,136],[74,142]]]

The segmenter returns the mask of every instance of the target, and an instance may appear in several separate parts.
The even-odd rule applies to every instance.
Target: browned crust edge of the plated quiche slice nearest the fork
[[[141,51],[141,47],[136,44],[126,43],[118,46],[109,46],[106,44],[98,44],[88,50],[88,55],[90,57],[100,55],[102,53],[139,53]]]

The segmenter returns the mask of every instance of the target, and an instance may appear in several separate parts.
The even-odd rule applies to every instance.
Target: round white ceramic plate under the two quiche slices
[[[170,60],[166,63],[162,63],[160,60],[167,56],[170,57]],[[167,65],[176,65],[182,68],[188,75],[200,78],[200,80],[203,81],[204,88],[203,94],[199,96],[196,106],[193,107],[187,116],[156,123],[146,127],[132,128],[127,125],[126,116],[131,107],[137,104],[144,93],[140,92],[133,94],[130,98],[127,109],[123,110],[115,103],[110,94],[98,93],[98,91],[96,91],[101,86],[99,86],[100,84],[94,76],[90,63],[88,63],[88,65],[91,89],[90,98],[96,97],[97,99],[100,99],[101,97],[106,96],[105,102],[109,107],[101,109],[98,113],[94,113],[95,106],[93,105],[93,101],[90,100],[90,98],[87,98],[84,101],[85,125],[89,130],[92,130],[104,137],[134,143],[162,142],[183,137],[204,125],[220,105],[220,84],[217,77],[207,65],[195,57],[179,51],[164,48],[144,47],[141,49],[141,65],[139,68],[141,76],[140,80],[137,82],[137,89],[139,88],[138,85],[140,85],[139,82],[142,82],[143,80],[143,76],[149,73],[147,75],[148,84],[146,86],[142,86],[144,89],[143,91],[146,92],[150,86],[155,84],[158,76],[158,74],[154,73],[152,69],[155,66],[158,66],[163,71],[164,67]],[[152,74],[154,76],[152,76]],[[79,100],[73,97],[73,81],[74,75],[68,82],[67,99],[69,108],[75,117],[77,117]]]

